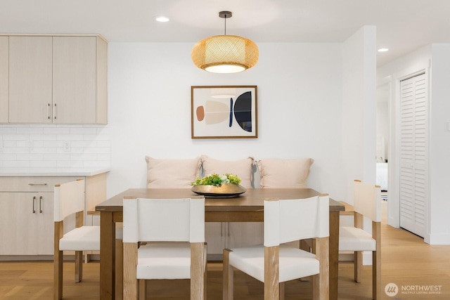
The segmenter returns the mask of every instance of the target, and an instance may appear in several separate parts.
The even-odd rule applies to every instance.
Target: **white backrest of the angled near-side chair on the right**
[[[329,197],[264,200],[264,246],[329,236]]]

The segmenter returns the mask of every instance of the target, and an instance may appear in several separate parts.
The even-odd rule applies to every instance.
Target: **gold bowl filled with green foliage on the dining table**
[[[234,174],[211,174],[203,178],[197,177],[191,190],[205,197],[234,197],[247,191],[239,185],[240,181]]]

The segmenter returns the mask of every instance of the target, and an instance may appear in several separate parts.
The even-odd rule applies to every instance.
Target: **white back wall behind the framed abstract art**
[[[205,154],[224,160],[312,157],[309,186],[345,200],[342,45],[259,43],[257,65],[237,74],[198,69],[192,46],[108,44],[108,197],[146,187],[145,155]],[[191,86],[196,85],[257,85],[258,138],[191,139]]]

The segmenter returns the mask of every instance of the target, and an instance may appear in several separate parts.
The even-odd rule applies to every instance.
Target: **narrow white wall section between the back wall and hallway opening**
[[[342,161],[348,199],[353,181],[375,184],[376,28],[364,26],[343,46]]]

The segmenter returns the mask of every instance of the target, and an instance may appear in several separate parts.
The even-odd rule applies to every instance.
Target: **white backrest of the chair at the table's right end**
[[[381,221],[381,188],[373,185],[354,181],[354,211],[374,222]]]

